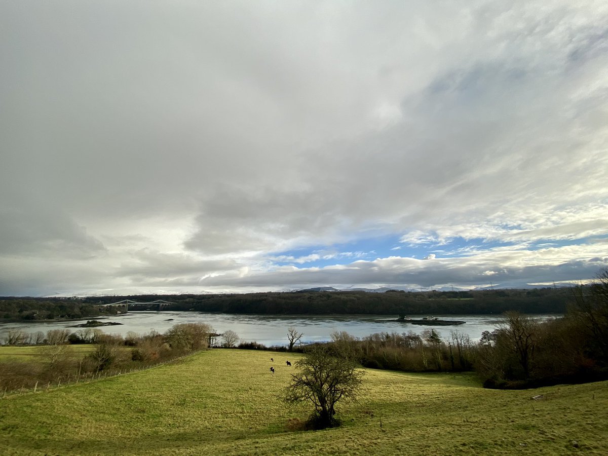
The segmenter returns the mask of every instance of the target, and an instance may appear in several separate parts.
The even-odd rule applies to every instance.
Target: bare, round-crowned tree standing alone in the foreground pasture
[[[314,413],[307,423],[312,429],[338,426],[340,421],[334,418],[336,402],[356,399],[363,371],[346,358],[336,358],[322,345],[306,350],[295,368],[291,384],[285,389],[285,402],[313,404]]]

